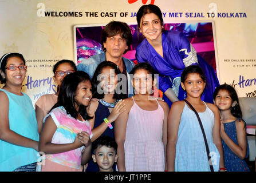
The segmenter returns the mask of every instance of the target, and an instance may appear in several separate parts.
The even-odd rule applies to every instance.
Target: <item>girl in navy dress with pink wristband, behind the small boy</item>
[[[114,70],[114,72],[111,73],[111,70]],[[91,101],[89,107],[94,116],[92,120],[89,120],[93,128],[92,142],[101,136],[108,136],[115,140],[115,120],[123,112],[123,101],[121,99],[124,97],[123,94],[115,92],[118,80],[115,79],[117,74],[120,74],[117,65],[109,61],[101,62],[94,72],[92,78],[95,89],[93,98],[97,98],[99,101]],[[112,129],[109,128],[104,119],[109,121],[113,127]],[[97,156],[97,154],[95,155]],[[113,169],[116,169],[116,164],[113,165]],[[92,158],[88,162],[86,172],[99,172],[99,166],[93,162]]]

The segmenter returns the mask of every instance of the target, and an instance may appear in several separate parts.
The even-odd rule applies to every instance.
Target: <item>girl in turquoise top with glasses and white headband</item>
[[[0,172],[36,171],[39,136],[32,102],[21,92],[25,59],[7,53],[0,60]]]

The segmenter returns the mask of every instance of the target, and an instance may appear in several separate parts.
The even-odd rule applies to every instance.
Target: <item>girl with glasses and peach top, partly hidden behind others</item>
[[[73,61],[62,59],[58,61],[53,67],[53,80],[57,83],[57,92],[55,94],[45,94],[38,98],[35,109],[38,123],[38,133],[41,133],[42,125],[44,121],[44,117],[49,112],[49,110],[53,107],[54,104],[57,103],[58,93],[60,92],[61,82],[64,77],[70,73],[76,71],[76,65]]]

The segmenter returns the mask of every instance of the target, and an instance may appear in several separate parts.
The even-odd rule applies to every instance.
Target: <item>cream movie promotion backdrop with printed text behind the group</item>
[[[221,84],[233,85],[239,97],[256,97],[255,0],[0,0],[0,54],[23,54],[22,91],[34,104],[56,92],[52,70],[57,61],[77,64],[101,53],[101,30],[110,21],[130,26],[133,44],[125,57],[136,62],[136,46],[143,39],[136,12],[149,3],[162,10],[166,30],[183,31]]]

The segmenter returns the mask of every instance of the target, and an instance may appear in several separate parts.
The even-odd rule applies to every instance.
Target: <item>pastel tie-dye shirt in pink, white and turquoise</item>
[[[53,144],[73,143],[77,133],[82,131],[87,132],[90,135],[90,138],[92,138],[92,130],[89,122],[76,120],[70,116],[70,114],[66,114],[66,110],[63,106],[53,109],[45,119],[49,115],[57,126],[56,132],[53,134],[52,138]],[[50,161],[57,162],[58,164],[79,169],[83,149],[84,146],[81,146],[81,148],[70,150],[68,152],[47,154],[46,158]]]

